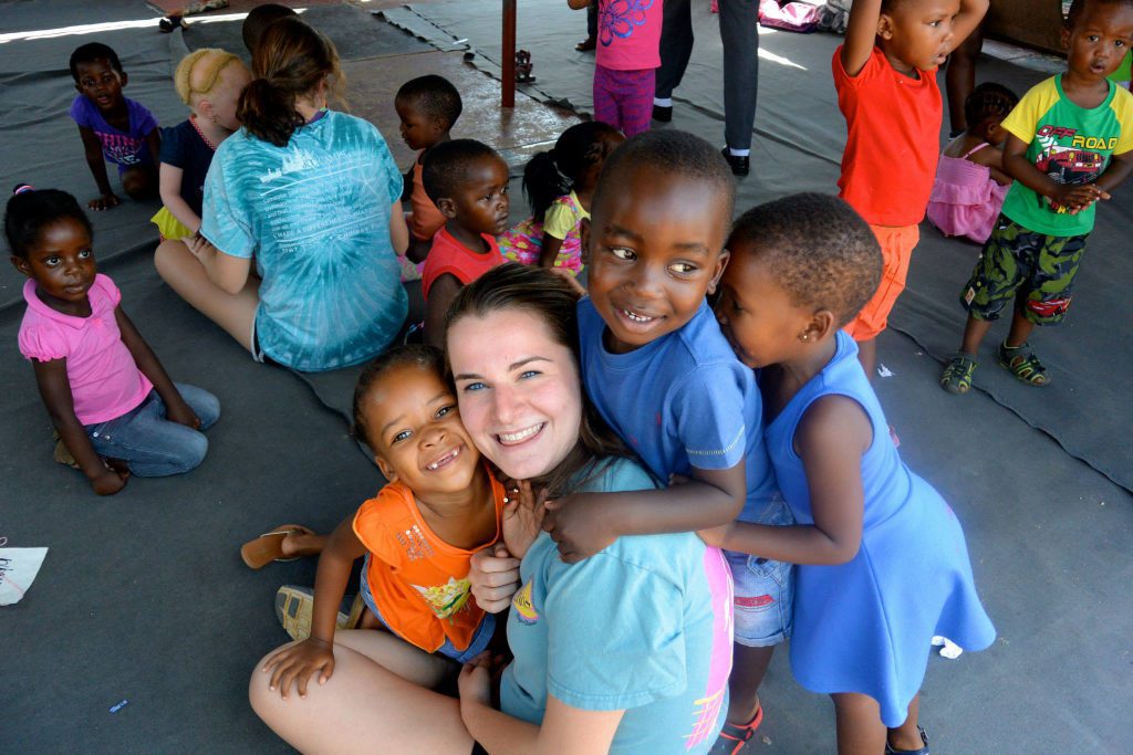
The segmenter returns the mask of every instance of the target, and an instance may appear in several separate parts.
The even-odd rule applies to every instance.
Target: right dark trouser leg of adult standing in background
[[[751,148],[751,128],[756,121],[759,80],[757,0],[719,0],[719,40],[724,45],[724,140],[733,155],[743,156]]]

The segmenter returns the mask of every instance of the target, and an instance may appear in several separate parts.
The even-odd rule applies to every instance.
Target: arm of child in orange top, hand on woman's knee
[[[366,554],[366,548],[353,531],[353,515],[343,520],[331,533],[318,557],[315,573],[315,607],[312,609],[310,636],[300,643],[287,645],[264,662],[263,671],[271,672],[271,689],[279,689],[284,700],[296,685],[299,697],[307,696],[307,685],[315,675],[318,684],[326,684],[334,672],[334,624],[339,603],[347,591],[353,563]]]

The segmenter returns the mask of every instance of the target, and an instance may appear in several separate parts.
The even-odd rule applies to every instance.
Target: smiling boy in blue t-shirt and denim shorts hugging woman
[[[579,302],[580,361],[603,418],[667,490],[576,495],[547,504],[564,560],[629,534],[707,522],[791,524],[764,448],[759,391],[705,297],[727,263],[734,183],[719,152],[680,131],[650,131],[606,161],[582,222],[589,298]],[[789,565],[729,554],[735,664],[721,735],[727,750],[763,719],[757,694],[791,627]]]

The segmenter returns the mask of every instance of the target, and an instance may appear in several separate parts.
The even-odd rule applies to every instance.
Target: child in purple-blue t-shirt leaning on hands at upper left
[[[161,135],[157,121],[143,105],[122,96],[129,81],[118,53],[99,42],[78,48],[70,57],[70,71],[78,96],[70,117],[78,125],[99,196],[91,209],[110,209],[121,201],[110,188],[105,160],[118,165],[122,190],[131,199],[157,196]]]

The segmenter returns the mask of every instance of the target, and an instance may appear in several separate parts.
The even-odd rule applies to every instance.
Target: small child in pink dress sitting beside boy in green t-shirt
[[[1003,172],[999,123],[1019,103],[1007,87],[986,81],[964,101],[968,130],[940,155],[928,203],[928,218],[945,235],[966,237],[983,243],[999,216],[1011,177]]]

